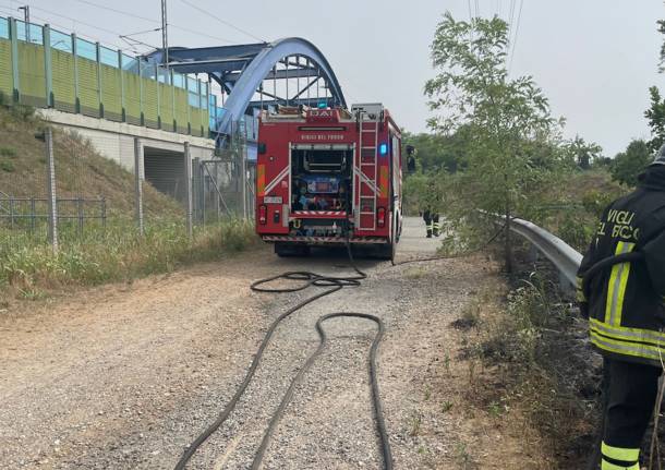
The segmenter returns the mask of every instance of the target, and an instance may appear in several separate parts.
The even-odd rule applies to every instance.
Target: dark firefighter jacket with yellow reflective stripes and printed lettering
[[[665,181],[665,180],[664,180]],[[589,299],[591,342],[603,354],[661,365],[665,361],[665,184],[639,188],[605,209],[580,267],[583,274],[613,255],[643,251],[645,261],[616,264],[594,276]]]

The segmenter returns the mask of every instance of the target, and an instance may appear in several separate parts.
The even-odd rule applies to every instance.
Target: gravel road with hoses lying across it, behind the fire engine
[[[406,220],[398,261],[434,253],[437,240],[423,234],[419,219]],[[283,391],[318,344],[316,320],[336,311],[386,323],[378,378],[396,468],[456,468],[459,417],[423,402],[456,340],[450,322],[496,273],[479,257],[359,265],[368,274],[362,287],[307,305],[278,327],[247,393],[189,468],[249,468]],[[270,322],[313,294],[252,293],[250,282],[295,269],[348,272],[343,253],[280,260],[262,248],[2,314],[0,468],[172,468],[233,395]],[[265,469],[382,466],[367,376],[375,325],[340,318],[326,332],[329,345],[298,387]]]

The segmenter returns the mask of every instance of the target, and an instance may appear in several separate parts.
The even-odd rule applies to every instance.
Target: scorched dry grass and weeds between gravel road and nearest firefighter
[[[519,422],[537,445],[539,468],[584,468],[598,422],[598,362],[583,325],[535,276],[479,296],[454,323],[462,333],[468,401],[501,425]],[[528,467],[531,468],[531,467]]]

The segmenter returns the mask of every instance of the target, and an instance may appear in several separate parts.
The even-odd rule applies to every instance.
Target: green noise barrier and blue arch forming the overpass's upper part
[[[0,92],[14,103],[217,138],[256,137],[256,111],[346,100],[324,55],[302,38],[132,57],[49,25],[0,17]]]

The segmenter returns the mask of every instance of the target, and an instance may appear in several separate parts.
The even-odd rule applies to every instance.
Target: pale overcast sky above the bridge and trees
[[[101,10],[105,4],[154,22]],[[425,131],[430,116],[423,84],[434,75],[428,47],[440,15],[449,10],[468,19],[515,3],[512,74],[531,74],[549,97],[555,116],[568,120],[566,134],[600,143],[606,155],[630,138],[649,137],[643,111],[648,88],[662,86],[657,73],[661,44],[656,20],[665,17],[662,0],[186,0],[253,35],[273,40],[301,36],[326,55],[347,100],[383,101],[409,131]],[[26,2],[0,0],[7,14]],[[123,46],[119,34],[158,26],[159,0],[27,0],[35,22],[75,29],[107,45]],[[522,4],[519,29],[517,17]],[[214,46],[255,39],[214,17],[169,0],[173,46]],[[17,14],[20,15],[20,13]],[[75,19],[75,20],[74,20]],[[98,25],[99,28],[90,25]],[[207,36],[176,28],[181,26]],[[104,29],[101,29],[104,28]],[[136,36],[159,45],[158,32]]]

